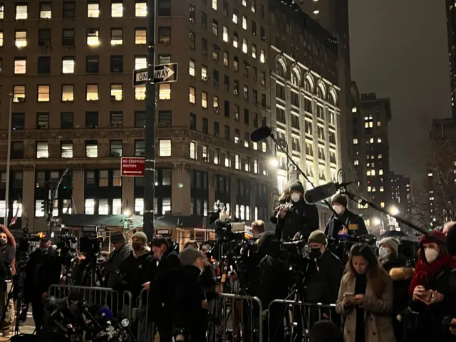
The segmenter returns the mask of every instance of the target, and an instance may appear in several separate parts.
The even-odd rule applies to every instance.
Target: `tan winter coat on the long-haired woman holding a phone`
[[[354,292],[355,280],[349,279],[348,274],[345,274],[341,281],[336,304],[337,313],[345,317],[343,328],[343,341],[345,342],[355,342],[356,309],[353,306],[348,309],[343,306],[343,294],[354,294]],[[368,280],[361,308],[365,311],[366,342],[395,342],[390,316],[393,309],[393,282],[388,279],[383,294],[378,297],[373,292],[371,281]]]

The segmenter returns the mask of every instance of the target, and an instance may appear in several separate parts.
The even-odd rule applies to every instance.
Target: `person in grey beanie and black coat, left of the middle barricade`
[[[191,341],[206,341],[209,304],[200,281],[204,259],[192,247],[183,249],[179,259],[182,269],[175,294],[175,326],[184,330]]]

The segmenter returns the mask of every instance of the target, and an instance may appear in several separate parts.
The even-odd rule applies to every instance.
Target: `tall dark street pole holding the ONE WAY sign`
[[[147,77],[145,94],[144,214],[142,229],[154,236],[155,197],[155,1],[147,0]]]

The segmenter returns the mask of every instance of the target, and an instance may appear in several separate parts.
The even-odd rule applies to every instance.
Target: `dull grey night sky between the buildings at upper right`
[[[390,98],[390,169],[419,181],[430,122],[451,116],[445,1],[349,3],[352,79]]]

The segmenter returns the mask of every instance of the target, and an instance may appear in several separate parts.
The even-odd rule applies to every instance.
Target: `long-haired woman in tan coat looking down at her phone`
[[[395,342],[393,283],[368,244],[351,247],[336,311],[345,317],[345,342]]]

